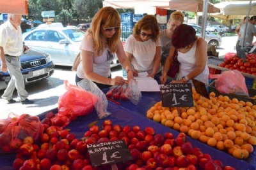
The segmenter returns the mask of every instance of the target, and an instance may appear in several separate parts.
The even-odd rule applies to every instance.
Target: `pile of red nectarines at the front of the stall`
[[[87,145],[124,140],[133,160],[116,163],[118,169],[224,169],[234,167],[223,165],[220,160],[212,160],[211,155],[193,148],[186,134],[174,137],[172,133],[156,134],[152,127],[140,129],[113,125],[104,120],[102,127],[92,125],[77,139],[68,130],[54,125],[47,127],[40,138],[40,145],[26,140],[20,146],[13,162],[14,170],[92,170],[111,169],[111,165],[92,167]]]

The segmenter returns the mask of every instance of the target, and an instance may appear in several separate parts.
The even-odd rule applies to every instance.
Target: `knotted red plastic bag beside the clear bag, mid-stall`
[[[58,113],[67,117],[89,115],[99,97],[81,87],[71,85],[67,80],[64,83],[67,92],[58,99]]]

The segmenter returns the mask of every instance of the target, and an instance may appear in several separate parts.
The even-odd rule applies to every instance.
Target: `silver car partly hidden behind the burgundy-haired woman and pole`
[[[201,36],[202,27],[195,24],[188,24],[191,25],[196,30],[196,36]],[[205,41],[208,45],[215,45],[220,46],[221,45],[221,38],[209,31],[205,31]]]

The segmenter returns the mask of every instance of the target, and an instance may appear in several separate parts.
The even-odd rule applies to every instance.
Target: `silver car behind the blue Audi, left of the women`
[[[84,31],[70,27],[47,27],[30,31],[22,38],[29,48],[49,53],[55,65],[72,66],[80,51]]]

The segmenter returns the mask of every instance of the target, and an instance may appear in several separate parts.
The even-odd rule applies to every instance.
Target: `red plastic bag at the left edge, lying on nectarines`
[[[43,132],[44,125],[38,117],[10,113],[8,118],[0,120],[0,152],[16,152],[24,138],[30,136],[37,141]]]

